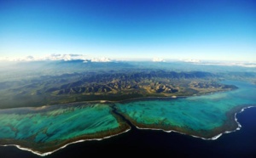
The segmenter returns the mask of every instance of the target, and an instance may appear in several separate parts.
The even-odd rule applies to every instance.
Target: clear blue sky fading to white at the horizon
[[[256,61],[254,0],[0,0],[0,58]]]

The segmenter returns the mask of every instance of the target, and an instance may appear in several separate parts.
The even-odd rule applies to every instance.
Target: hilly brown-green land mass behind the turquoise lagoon
[[[236,89],[204,71],[101,71],[0,82],[1,108],[201,95]]]

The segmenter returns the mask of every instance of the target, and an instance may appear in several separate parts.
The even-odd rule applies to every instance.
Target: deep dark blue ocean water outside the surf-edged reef
[[[256,157],[256,108],[237,114],[241,130],[225,133],[217,140],[203,140],[180,133],[165,133],[133,128],[101,141],[70,144],[45,158],[98,156],[157,156],[157,157]],[[38,158],[16,147],[0,147],[1,158]]]

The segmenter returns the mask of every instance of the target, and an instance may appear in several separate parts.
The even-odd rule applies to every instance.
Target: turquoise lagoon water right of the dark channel
[[[164,130],[210,131],[227,121],[226,113],[239,105],[256,104],[256,87],[246,82],[224,82],[238,89],[182,99],[143,100],[117,104],[137,127]],[[234,119],[233,119],[234,120]],[[200,135],[200,133],[198,134]]]

